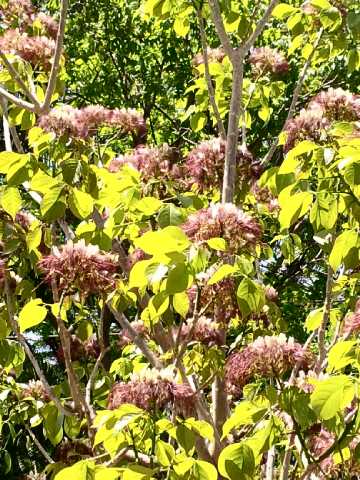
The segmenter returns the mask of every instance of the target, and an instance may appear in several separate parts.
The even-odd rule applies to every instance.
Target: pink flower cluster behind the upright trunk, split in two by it
[[[185,174],[189,177],[189,186],[196,184],[200,191],[221,187],[224,176],[226,142],[213,138],[201,142],[191,150],[185,162]],[[254,161],[250,152],[238,150],[237,177],[240,181],[252,182],[259,178],[261,167]]]

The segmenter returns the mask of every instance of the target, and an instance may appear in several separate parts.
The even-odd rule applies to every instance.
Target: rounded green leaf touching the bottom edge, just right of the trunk
[[[234,443],[225,447],[219,455],[220,474],[229,480],[250,480],[255,470],[252,449],[244,443]]]

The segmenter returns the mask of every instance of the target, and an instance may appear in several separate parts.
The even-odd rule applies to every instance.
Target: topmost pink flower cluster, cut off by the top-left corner
[[[43,12],[38,12],[29,0],[8,0],[0,7],[0,20],[9,28],[26,31],[34,22],[39,22],[44,33],[55,38],[58,30],[57,22]]]

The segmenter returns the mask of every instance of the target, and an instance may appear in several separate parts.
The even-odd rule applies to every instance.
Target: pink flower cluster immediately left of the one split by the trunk
[[[139,145],[131,153],[114,158],[109,164],[109,171],[115,173],[124,165],[130,165],[141,172],[145,182],[152,178],[174,179],[180,177],[175,161],[175,152],[167,145],[160,148]]]

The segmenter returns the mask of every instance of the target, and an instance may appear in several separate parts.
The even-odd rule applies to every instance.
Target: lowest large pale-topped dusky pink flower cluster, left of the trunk
[[[132,374],[128,383],[116,383],[109,395],[108,408],[115,409],[131,403],[148,412],[170,407],[187,415],[193,410],[194,399],[195,394],[190,387],[173,381],[172,372],[148,369]]]

